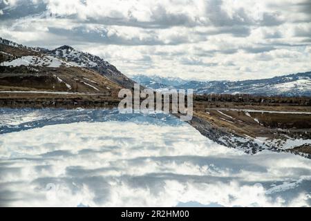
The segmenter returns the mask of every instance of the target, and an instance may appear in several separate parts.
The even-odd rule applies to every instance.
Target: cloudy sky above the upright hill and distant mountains
[[[0,36],[126,75],[257,79],[311,70],[311,1],[0,0]]]

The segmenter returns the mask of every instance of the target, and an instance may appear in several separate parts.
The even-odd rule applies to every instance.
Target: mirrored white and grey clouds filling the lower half
[[[268,151],[246,155],[187,124],[141,121],[79,122],[0,135],[0,204],[311,204],[308,159]]]

